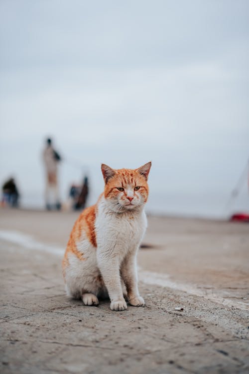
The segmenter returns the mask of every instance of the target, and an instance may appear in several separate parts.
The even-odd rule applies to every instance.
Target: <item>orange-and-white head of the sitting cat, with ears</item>
[[[138,169],[112,169],[102,164],[104,196],[112,210],[123,212],[142,207],[148,198],[148,174],[151,162]]]

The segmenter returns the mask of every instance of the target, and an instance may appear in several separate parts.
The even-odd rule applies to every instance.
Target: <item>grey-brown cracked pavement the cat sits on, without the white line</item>
[[[2,210],[0,218],[2,229],[65,246],[75,214]],[[144,308],[83,306],[65,296],[59,256],[1,240],[0,372],[249,373],[248,226],[151,217],[144,242],[160,248],[140,251],[142,269],[211,288],[245,307],[144,282]]]

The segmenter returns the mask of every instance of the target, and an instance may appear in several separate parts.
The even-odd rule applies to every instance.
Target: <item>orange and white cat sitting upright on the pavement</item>
[[[75,222],[63,259],[67,294],[98,305],[110,297],[112,310],[144,306],[137,288],[136,255],[147,221],[144,204],[151,163],[114,170],[102,164],[104,192]]]

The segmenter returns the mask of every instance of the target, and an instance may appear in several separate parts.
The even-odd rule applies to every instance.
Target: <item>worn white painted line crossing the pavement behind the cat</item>
[[[31,235],[24,234],[20,231],[0,230],[0,239],[21,245],[22,247],[27,249],[46,251],[61,257],[63,256],[65,251],[65,248],[41,243],[34,239]],[[168,287],[177,291],[186,292],[190,295],[203,297],[205,299],[214,301],[218,304],[226,305],[228,307],[234,306],[242,310],[249,310],[249,304],[247,303],[223,298],[213,293],[212,290],[203,290],[191,284],[173,282],[172,280],[170,280],[170,276],[167,274],[154,273],[152,271],[144,271],[142,269],[139,269],[138,274],[139,280],[146,284]]]

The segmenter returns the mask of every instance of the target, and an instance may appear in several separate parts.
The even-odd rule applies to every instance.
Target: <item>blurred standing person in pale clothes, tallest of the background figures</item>
[[[46,140],[46,147],[43,151],[43,162],[46,173],[45,204],[48,210],[56,208],[60,210],[58,187],[58,163],[61,161],[60,155],[54,150],[52,140]]]

